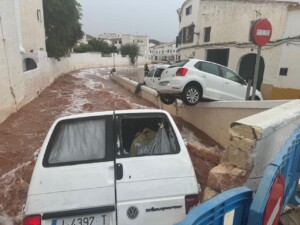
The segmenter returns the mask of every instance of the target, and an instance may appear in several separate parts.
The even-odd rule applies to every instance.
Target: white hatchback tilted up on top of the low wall
[[[202,99],[245,100],[247,82],[225,66],[188,59],[164,70],[156,90],[165,104],[179,98],[186,105],[195,105]],[[262,99],[256,90],[255,100]]]

